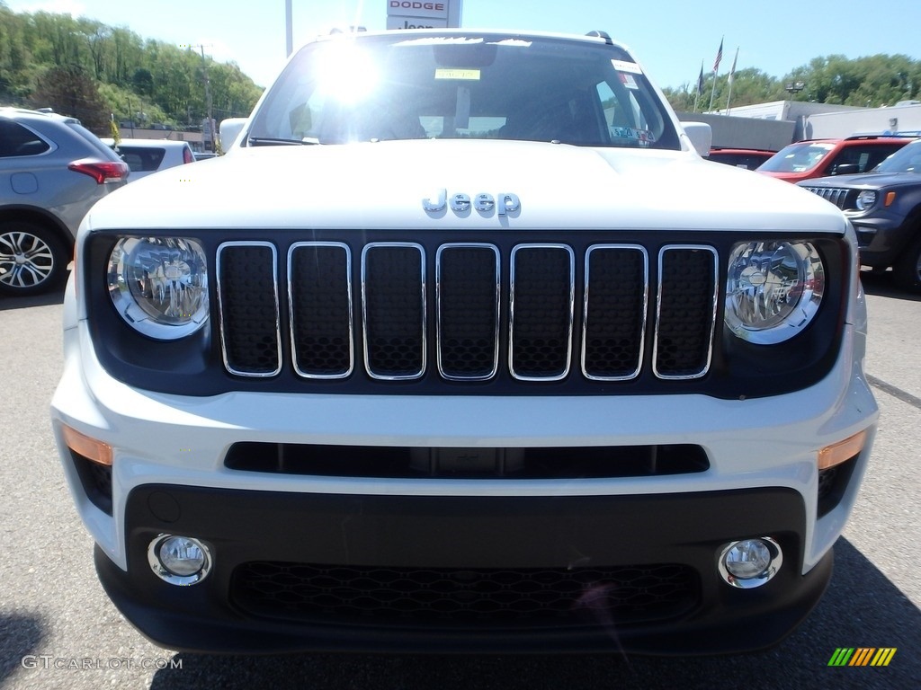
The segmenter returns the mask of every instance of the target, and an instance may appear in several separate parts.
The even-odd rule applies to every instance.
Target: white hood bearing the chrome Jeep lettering
[[[514,194],[509,214],[426,212],[445,193]],[[234,149],[100,201],[91,228],[630,228],[844,232],[814,194],[692,152],[492,140]]]

